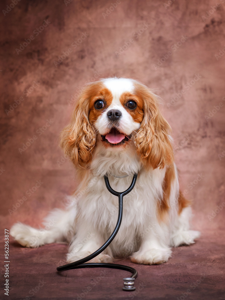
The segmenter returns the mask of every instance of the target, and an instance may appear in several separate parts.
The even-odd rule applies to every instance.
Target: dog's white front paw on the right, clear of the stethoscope
[[[167,262],[172,251],[170,249],[149,249],[137,251],[131,255],[131,261],[144,265],[161,264]]]

